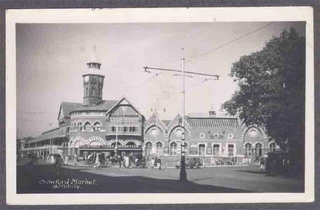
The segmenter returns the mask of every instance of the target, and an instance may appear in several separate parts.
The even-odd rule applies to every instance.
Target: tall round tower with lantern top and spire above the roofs
[[[87,63],[86,72],[83,77],[83,104],[86,106],[95,106],[102,101],[102,89],[104,75],[101,72],[101,63],[96,58],[94,46],[93,56]]]

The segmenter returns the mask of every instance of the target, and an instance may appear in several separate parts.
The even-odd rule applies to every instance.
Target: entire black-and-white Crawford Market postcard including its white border
[[[312,201],[312,10],[273,10],[276,19],[266,9],[261,20],[258,10],[230,19],[185,10],[145,19],[135,9],[86,11],[84,21],[83,11],[76,21],[12,11],[7,181],[16,198]]]

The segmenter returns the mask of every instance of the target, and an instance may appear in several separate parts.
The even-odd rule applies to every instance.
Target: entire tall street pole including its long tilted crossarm
[[[157,71],[167,71],[171,73],[179,72],[181,73],[181,126],[182,126],[182,135],[181,135],[181,167],[180,167],[180,182],[186,182],[187,180],[187,172],[186,172],[186,142],[185,142],[185,74],[191,75],[200,75],[200,76],[208,76],[208,77],[215,77],[216,80],[219,80],[218,75],[213,74],[204,74],[198,72],[191,72],[185,71],[185,58],[184,58],[184,48],[181,49],[181,70],[174,70],[174,69],[164,69],[164,68],[154,68],[154,67],[143,67],[145,72],[151,73],[150,70],[157,70]]]

